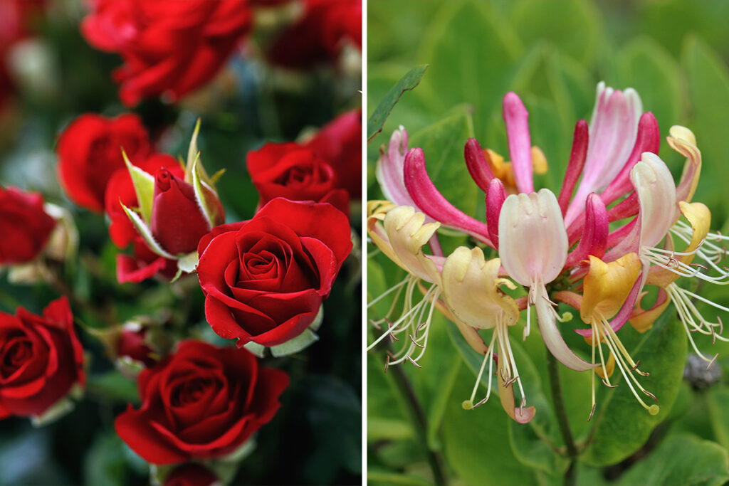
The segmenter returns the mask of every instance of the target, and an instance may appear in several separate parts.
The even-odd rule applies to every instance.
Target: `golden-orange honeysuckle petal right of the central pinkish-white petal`
[[[582,290],[580,318],[586,324],[593,321],[598,311],[605,319],[612,318],[630,294],[640,275],[641,263],[636,253],[621,256],[615,262],[605,263],[590,255],[590,270],[585,275]]]

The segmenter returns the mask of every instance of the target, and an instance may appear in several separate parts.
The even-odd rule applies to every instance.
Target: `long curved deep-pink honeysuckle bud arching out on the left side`
[[[405,156],[405,187],[416,206],[428,216],[491,246],[486,224],[456,209],[435,188],[425,170],[425,155],[420,148],[410,149]]]

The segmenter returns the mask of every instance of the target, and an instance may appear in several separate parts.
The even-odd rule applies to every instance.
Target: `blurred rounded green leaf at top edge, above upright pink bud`
[[[591,2],[582,0],[519,1],[512,13],[524,44],[546,40],[584,65],[592,63],[598,50],[600,17]]]

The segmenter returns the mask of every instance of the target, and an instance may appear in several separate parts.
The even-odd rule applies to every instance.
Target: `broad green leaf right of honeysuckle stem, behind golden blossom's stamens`
[[[663,313],[645,334],[639,334],[626,325],[618,337],[640,369],[650,376],[639,377],[647,391],[655,394],[660,405],[658,415],[650,415],[631,393],[618,371],[612,382],[617,388],[600,393],[598,409],[593,416],[595,431],[582,459],[588,464],[604,466],[615,464],[639,449],[651,431],[671,412],[681,384],[686,360],[686,335],[683,326],[671,310]],[[638,391],[640,393],[640,391]],[[653,401],[642,396],[648,405]]]

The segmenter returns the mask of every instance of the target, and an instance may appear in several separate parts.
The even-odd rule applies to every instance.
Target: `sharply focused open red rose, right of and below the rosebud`
[[[330,204],[278,198],[249,222],[214,228],[198,246],[208,323],[239,346],[298,336],[351,248],[348,219]]]

